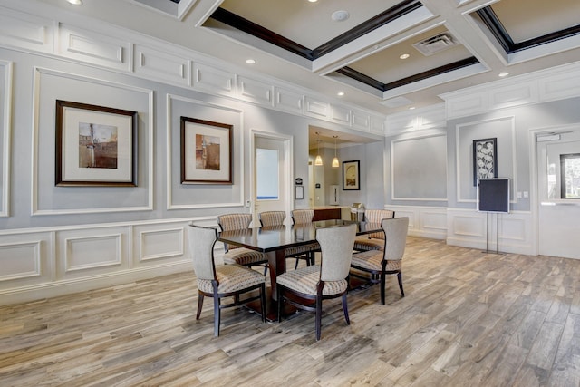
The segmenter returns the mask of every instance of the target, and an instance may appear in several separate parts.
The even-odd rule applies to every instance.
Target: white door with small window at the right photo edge
[[[538,133],[538,253],[580,259],[580,130]]]

